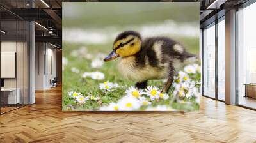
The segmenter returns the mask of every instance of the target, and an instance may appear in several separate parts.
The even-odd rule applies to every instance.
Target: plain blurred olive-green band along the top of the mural
[[[63,3],[63,27],[140,25],[172,19],[198,22],[199,3]]]

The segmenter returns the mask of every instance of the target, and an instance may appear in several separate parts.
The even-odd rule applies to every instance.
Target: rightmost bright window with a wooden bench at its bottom
[[[237,103],[256,109],[256,3],[237,11]]]

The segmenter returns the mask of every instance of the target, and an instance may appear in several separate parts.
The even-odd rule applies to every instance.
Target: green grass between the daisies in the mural
[[[188,50],[190,52],[193,52],[195,54],[198,53],[198,39],[190,39],[190,38],[183,38],[180,40],[183,41],[184,45],[187,45],[189,48]],[[85,45],[88,52],[90,54],[97,54],[99,52],[108,54],[111,51],[111,45],[112,43],[106,43],[104,45]],[[70,44],[63,42],[63,57],[66,57],[68,59],[68,64],[65,66],[65,70],[63,71],[63,110],[98,110],[99,107],[108,105],[111,102],[117,102],[122,96],[125,94],[125,89],[129,86],[134,86],[134,82],[131,82],[128,79],[125,79],[120,75],[116,68],[117,60],[104,63],[102,68],[94,69],[91,68],[90,63],[91,60],[84,59],[83,57],[74,57],[71,56],[70,53],[72,50],[79,49],[81,46],[79,44]],[[71,72],[71,68],[76,67],[80,70],[80,72],[74,73]],[[84,72],[94,72],[94,71],[100,71],[103,72],[105,75],[104,80],[93,80],[90,79],[90,77],[83,79],[82,75]],[[102,83],[106,80],[109,80],[109,82],[116,82],[120,87],[116,89],[113,92],[104,92],[99,89],[99,83]],[[164,83],[162,80],[150,80],[148,82],[149,86],[157,86],[162,88],[164,86]],[[81,94],[84,94],[85,96],[97,96],[100,98],[100,102],[97,102],[95,100],[88,100],[83,106],[76,105],[76,102],[69,98],[68,91],[76,91]],[[170,91],[170,96],[172,96],[172,90]],[[185,100],[186,101],[186,100]],[[197,110],[199,108],[198,103],[195,102],[195,99],[192,98],[188,101],[191,104],[186,103],[177,103],[177,102],[171,102],[171,100],[160,100],[159,102],[153,102],[152,105],[170,105],[173,109],[176,110]],[[72,106],[73,109],[70,109]],[[141,107],[140,110],[144,110],[145,107]]]

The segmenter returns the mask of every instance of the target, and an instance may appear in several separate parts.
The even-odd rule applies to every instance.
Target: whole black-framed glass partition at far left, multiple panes
[[[12,8],[26,8],[25,2],[28,3],[12,1]],[[0,114],[3,114],[29,104],[29,22],[0,8],[0,30]]]

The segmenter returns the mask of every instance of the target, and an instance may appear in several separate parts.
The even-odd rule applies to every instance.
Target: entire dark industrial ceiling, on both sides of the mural
[[[78,1],[113,1],[113,0],[1,0],[0,15],[2,22],[9,26],[12,31],[12,20],[24,19],[35,20],[36,41],[51,42],[61,47],[62,37],[62,2]],[[119,0],[115,0],[119,1]],[[200,3],[200,26],[214,17],[221,10],[228,10],[239,6],[248,0],[120,0],[120,1],[172,1],[172,2],[199,2]],[[30,2],[30,3],[29,3]],[[32,8],[33,7],[33,8]],[[225,13],[225,12],[224,12]],[[214,20],[214,19],[213,19]],[[45,29],[46,28],[46,29]],[[13,31],[13,34],[15,31]],[[18,29],[19,33],[19,29]],[[12,34],[12,32],[10,32]]]

